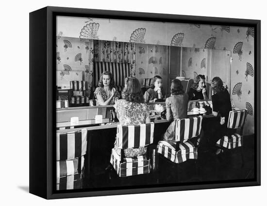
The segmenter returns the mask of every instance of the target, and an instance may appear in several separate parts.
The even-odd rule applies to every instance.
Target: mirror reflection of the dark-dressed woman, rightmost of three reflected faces
[[[208,95],[205,89],[204,75],[197,75],[196,79],[194,79],[192,87],[189,89],[189,92],[187,94],[189,96],[189,101],[208,99]]]

